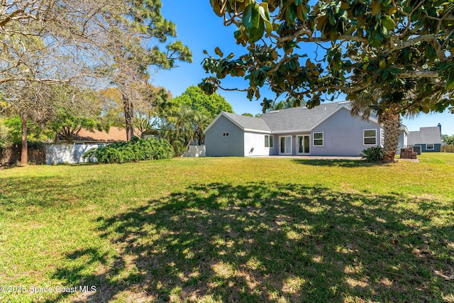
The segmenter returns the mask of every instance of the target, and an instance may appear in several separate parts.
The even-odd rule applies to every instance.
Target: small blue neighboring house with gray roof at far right
[[[408,146],[419,154],[441,151],[441,125],[421,127],[419,131],[410,131]],[[421,150],[419,150],[421,149]]]

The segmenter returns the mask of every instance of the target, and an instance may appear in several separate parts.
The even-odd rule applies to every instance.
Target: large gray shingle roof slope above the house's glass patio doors
[[[348,104],[335,102],[321,104],[314,109],[306,107],[280,109],[279,111],[268,111],[260,119],[265,121],[272,131],[311,131],[339,107],[345,105]]]

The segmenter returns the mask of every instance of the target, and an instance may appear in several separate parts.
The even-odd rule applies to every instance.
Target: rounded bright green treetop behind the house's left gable
[[[188,87],[184,93],[175,98],[175,102],[188,106],[209,119],[214,119],[221,111],[233,113],[233,108],[224,97],[219,94],[205,94],[199,87]]]

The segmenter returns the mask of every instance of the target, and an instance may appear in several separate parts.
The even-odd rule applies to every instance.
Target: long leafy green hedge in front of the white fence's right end
[[[99,163],[124,163],[140,160],[170,159],[175,155],[169,141],[165,139],[134,138],[133,141],[114,143],[99,148],[92,148],[82,158],[94,157]]]

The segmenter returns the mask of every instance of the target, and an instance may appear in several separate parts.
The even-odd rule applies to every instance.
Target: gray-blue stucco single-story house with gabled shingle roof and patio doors
[[[348,101],[268,111],[260,118],[222,112],[205,130],[207,156],[358,156],[382,145],[377,119],[352,116]]]

